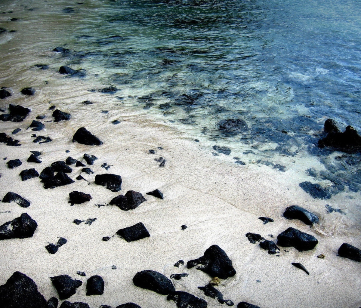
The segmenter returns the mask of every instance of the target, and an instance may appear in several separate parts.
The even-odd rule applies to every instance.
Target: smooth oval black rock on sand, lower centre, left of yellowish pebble
[[[175,291],[170,279],[154,270],[142,270],[142,272],[136,273],[133,277],[133,283],[137,287],[148,289],[162,295],[168,295]]]

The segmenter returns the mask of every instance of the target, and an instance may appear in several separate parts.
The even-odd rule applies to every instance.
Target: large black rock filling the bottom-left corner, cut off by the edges
[[[36,283],[21,272],[14,272],[0,286],[0,303],[3,308],[47,308]]]

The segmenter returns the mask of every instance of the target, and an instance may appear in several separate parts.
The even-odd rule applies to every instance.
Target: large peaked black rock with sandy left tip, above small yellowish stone
[[[227,279],[236,274],[236,270],[232,266],[232,261],[218,245],[210,246],[204,252],[203,256],[187,262],[188,268],[194,266],[197,266],[197,269],[200,269],[211,277],[218,277],[221,279]]]

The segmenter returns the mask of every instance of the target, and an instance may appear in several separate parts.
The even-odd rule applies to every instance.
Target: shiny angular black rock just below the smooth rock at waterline
[[[282,247],[295,247],[298,251],[311,250],[316,247],[318,240],[307,233],[295,228],[288,228],[277,237],[277,245]]]

